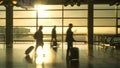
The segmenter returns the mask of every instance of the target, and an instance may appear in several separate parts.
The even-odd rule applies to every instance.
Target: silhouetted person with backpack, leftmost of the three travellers
[[[42,46],[43,47],[43,32],[42,32],[42,26],[39,27],[39,30],[37,32],[35,32],[34,34],[34,38],[36,39],[36,48],[35,50],[38,48],[38,46]]]

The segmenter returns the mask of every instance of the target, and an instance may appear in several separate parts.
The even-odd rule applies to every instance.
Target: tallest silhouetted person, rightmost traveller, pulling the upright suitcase
[[[69,24],[69,28],[68,28],[67,33],[66,33],[67,56],[68,56],[68,53],[70,51],[70,48],[73,47],[73,41],[75,41],[73,38],[72,27],[73,27],[73,24]]]

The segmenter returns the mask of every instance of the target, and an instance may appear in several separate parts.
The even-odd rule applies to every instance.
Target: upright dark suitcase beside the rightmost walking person
[[[70,49],[70,59],[79,60],[79,49],[77,47],[72,47]]]

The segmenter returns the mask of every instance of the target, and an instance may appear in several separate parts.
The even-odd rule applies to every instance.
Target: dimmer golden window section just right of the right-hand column
[[[106,8],[106,9],[105,9]],[[115,6],[94,5],[94,33],[116,34]],[[104,29],[101,30],[101,29]],[[99,32],[98,32],[99,31]]]

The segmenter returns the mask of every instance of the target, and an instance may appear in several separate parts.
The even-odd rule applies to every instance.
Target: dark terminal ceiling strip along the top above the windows
[[[120,4],[120,0],[0,0],[0,5],[13,4],[14,6],[28,8],[35,4],[80,6],[81,4],[88,4],[89,2],[93,4],[109,4],[110,6]]]

